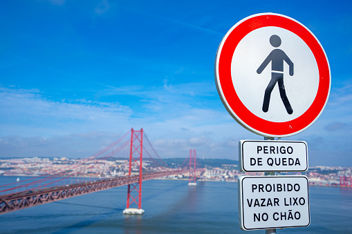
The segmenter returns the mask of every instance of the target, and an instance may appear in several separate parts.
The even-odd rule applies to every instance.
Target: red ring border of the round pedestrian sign
[[[232,84],[231,63],[234,50],[237,45],[248,33],[262,27],[279,27],[289,30],[299,36],[311,49],[319,70],[319,86],[317,95],[313,104],[306,110],[305,113],[296,119],[286,122],[273,122],[261,119],[244,106],[239,99],[236,90]],[[324,109],[328,94],[330,92],[330,69],[326,59],[325,52],[315,36],[307,30],[302,24],[293,19],[286,18],[277,14],[260,14],[250,17],[234,27],[228,37],[224,38],[221,51],[218,52],[219,62],[217,64],[219,83],[223,92],[223,98],[228,103],[228,107],[237,115],[239,120],[248,127],[259,131],[259,135],[270,136],[288,136],[301,132],[319,117]]]

